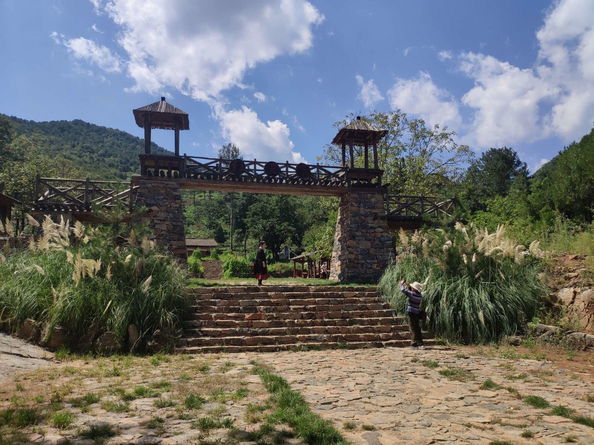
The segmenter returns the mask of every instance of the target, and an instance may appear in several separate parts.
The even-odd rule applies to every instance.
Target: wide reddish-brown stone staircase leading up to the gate
[[[403,347],[408,326],[375,287],[201,287],[181,352]],[[424,333],[424,336],[426,333]]]

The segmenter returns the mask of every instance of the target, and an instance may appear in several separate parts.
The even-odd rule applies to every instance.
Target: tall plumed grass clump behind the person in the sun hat
[[[538,275],[539,259],[548,255],[505,236],[457,222],[452,230],[401,230],[400,255],[379,282],[381,294],[399,314],[407,300],[400,280],[424,282],[427,327],[448,341],[484,344],[514,335],[530,320],[546,290]]]

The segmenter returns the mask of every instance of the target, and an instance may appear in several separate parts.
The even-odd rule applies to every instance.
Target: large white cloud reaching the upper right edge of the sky
[[[469,142],[482,147],[579,138],[594,116],[594,3],[555,2],[536,32],[538,59],[521,69],[465,53],[460,70],[475,81],[463,102],[476,110]]]

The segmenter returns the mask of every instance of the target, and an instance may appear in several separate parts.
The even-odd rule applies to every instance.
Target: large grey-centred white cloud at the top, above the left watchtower
[[[324,20],[305,0],[110,0],[105,11],[122,27],[134,91],[172,86],[207,101],[239,86],[257,63],[309,49],[312,27]]]

